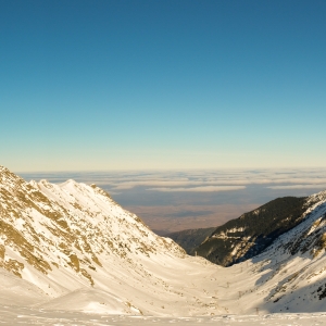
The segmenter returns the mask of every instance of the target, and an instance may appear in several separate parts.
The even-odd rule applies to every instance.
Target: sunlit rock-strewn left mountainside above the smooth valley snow
[[[26,263],[43,274],[65,265],[92,285],[89,272],[102,266],[102,254],[149,255],[155,252],[158,241],[166,250],[184,254],[93,185],[25,183],[1,167],[0,213],[0,264],[21,277]],[[8,250],[15,259],[5,259]]]

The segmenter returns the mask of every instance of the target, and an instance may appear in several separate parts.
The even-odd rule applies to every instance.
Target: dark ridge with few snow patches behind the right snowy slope
[[[197,249],[213,263],[229,266],[261,253],[304,218],[315,197],[275,199],[217,227]]]

